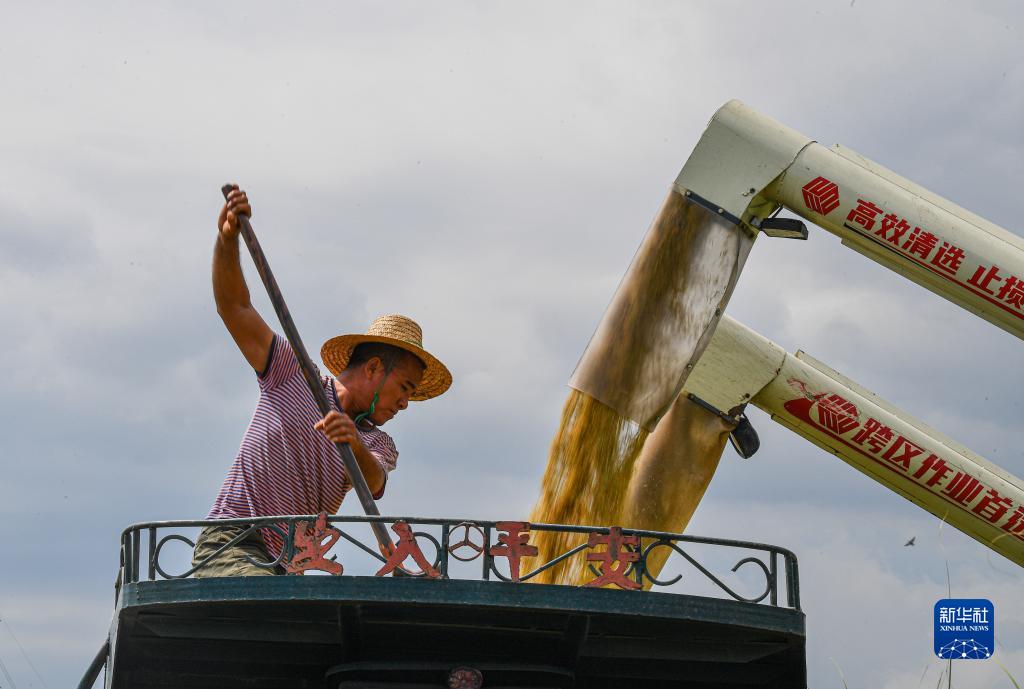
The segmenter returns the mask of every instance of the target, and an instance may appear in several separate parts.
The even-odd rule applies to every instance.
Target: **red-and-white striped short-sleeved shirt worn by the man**
[[[258,379],[256,411],[207,519],[336,513],[352,485],[334,443],[313,429],[319,410],[287,339],[274,335]],[[331,407],[342,412],[333,379],[321,376],[321,382]],[[356,430],[386,480],[398,460],[391,436],[376,426]],[[383,494],[382,486],[374,498]],[[270,557],[276,558],[284,546],[281,535],[271,529],[262,533]]]

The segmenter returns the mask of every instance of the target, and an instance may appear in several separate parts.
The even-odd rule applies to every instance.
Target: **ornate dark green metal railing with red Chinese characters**
[[[368,532],[365,537],[360,539],[355,534],[360,526],[370,527],[381,523],[391,526],[399,536],[396,542],[398,549],[403,547],[402,544],[407,544],[415,552],[407,548],[401,554],[392,551],[389,557],[388,554],[380,552],[369,528],[366,529]],[[165,568],[167,563],[161,560],[162,556],[165,556],[166,547],[177,542],[191,549],[195,547],[195,542],[182,531],[207,526],[232,526],[237,532],[202,561],[193,563],[179,573],[167,571]],[[121,534],[120,582],[131,584],[140,580],[184,578],[197,573],[202,575],[205,568],[214,566],[211,563],[223,551],[251,542],[260,530],[264,530],[263,532],[270,539],[276,536],[274,540],[284,544],[281,552],[273,560],[261,561],[249,556],[246,556],[246,559],[253,566],[272,569],[275,573],[298,574],[309,569],[322,569],[345,575],[341,572],[342,563],[337,560],[338,554],[332,556],[327,551],[333,546],[347,544],[343,547],[348,548],[349,555],[369,556],[372,564],[383,565],[377,571],[377,575],[394,572],[407,576],[478,577],[483,580],[527,583],[559,563],[571,563],[573,558],[579,558],[578,562],[586,563],[586,567],[595,576],[595,579],[586,586],[615,584],[623,589],[672,587],[673,592],[681,593],[680,584],[682,583],[682,587],[685,588],[691,579],[684,580],[682,573],[669,578],[659,578],[648,568],[648,560],[653,553],[658,549],[669,549],[672,551],[670,555],[674,553],[679,557],[670,558],[666,568],[675,570],[680,566],[689,567],[699,575],[699,580],[710,583],[714,589],[736,601],[745,603],[767,601],[773,606],[800,609],[797,556],[776,546],[618,527],[417,517],[291,515],[134,524]],[[532,560],[536,558],[530,556],[536,555],[536,550],[529,550],[531,546],[528,544],[528,539],[529,533],[538,531],[580,534],[587,540],[546,562],[534,564]],[[325,540],[331,541],[326,549],[323,547]],[[427,550],[424,551],[424,548]],[[698,560],[695,551],[699,550],[703,555],[708,555],[706,548],[713,548],[713,552],[718,555],[710,559],[720,560],[725,553],[733,551],[742,555],[729,571],[736,574],[741,567],[748,566],[748,569],[760,572],[764,577],[763,590],[748,595],[737,593],[736,588],[751,588],[750,582],[737,582],[732,586],[726,584],[724,578],[728,576],[727,574],[717,574]],[[420,555],[419,559],[413,557],[413,560],[420,563],[418,569],[406,564],[406,560],[417,553]],[[732,557],[733,555],[729,555],[727,561]],[[465,563],[475,560],[480,560],[478,574],[470,571],[470,575],[467,576]],[[353,558],[346,556],[345,566],[350,569],[352,562]],[[503,566],[499,566],[499,563]],[[525,571],[521,574],[520,563],[526,565]],[[456,572],[455,569],[460,571]],[[602,576],[605,578],[602,579]],[[780,603],[783,594],[784,602]]]

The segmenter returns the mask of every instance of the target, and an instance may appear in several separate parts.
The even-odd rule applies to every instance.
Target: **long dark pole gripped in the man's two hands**
[[[225,184],[220,188],[224,195],[224,199],[227,199],[227,195],[232,188],[231,184]],[[327,393],[324,392],[324,387],[321,384],[319,377],[316,375],[316,370],[313,368],[313,362],[309,359],[309,354],[306,353],[306,349],[302,345],[299,331],[295,328],[292,314],[289,312],[285,298],[278,288],[278,281],[273,278],[273,273],[270,271],[270,264],[267,263],[263,249],[259,246],[259,241],[256,239],[252,224],[249,222],[249,218],[240,215],[239,225],[242,229],[242,236],[246,241],[246,246],[249,248],[249,254],[256,265],[256,271],[259,273],[260,279],[263,281],[263,286],[270,297],[270,303],[273,304],[273,310],[278,313],[278,319],[285,331],[285,337],[288,338],[288,343],[292,345],[295,356],[299,360],[299,369],[302,371],[302,377],[306,380],[306,385],[309,386],[309,392],[312,393],[321,414],[327,416],[328,412],[331,411],[331,403],[328,401]],[[380,511],[377,509],[377,503],[370,492],[370,486],[367,485],[367,479],[362,476],[362,470],[359,469],[359,465],[355,461],[352,448],[346,442],[337,442],[335,443],[335,447],[338,449],[338,456],[341,458],[342,464],[345,465],[348,480],[352,483],[352,488],[359,499],[362,511],[371,516],[379,516]],[[378,543],[380,543],[381,547],[387,553],[390,553],[392,551],[391,537],[388,535],[384,524],[375,521],[371,526],[373,527],[374,535],[377,536]]]

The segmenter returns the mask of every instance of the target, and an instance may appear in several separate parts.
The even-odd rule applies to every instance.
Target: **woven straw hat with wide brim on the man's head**
[[[423,348],[423,330],[415,320],[403,315],[382,315],[370,325],[365,335],[339,335],[331,338],[321,348],[321,357],[331,373],[338,376],[348,365],[355,347],[365,342],[394,345],[423,361],[426,367],[423,370],[423,380],[410,397],[412,400],[436,397],[452,385],[452,374],[447,367]]]

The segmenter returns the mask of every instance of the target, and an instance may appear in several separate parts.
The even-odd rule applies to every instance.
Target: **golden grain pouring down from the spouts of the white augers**
[[[684,189],[670,191],[569,381],[530,521],[683,530],[731,428],[679,392],[752,245]],[[547,531],[535,541],[535,564],[582,543]],[[651,567],[664,559],[652,556]],[[586,574],[570,558],[532,580]]]

